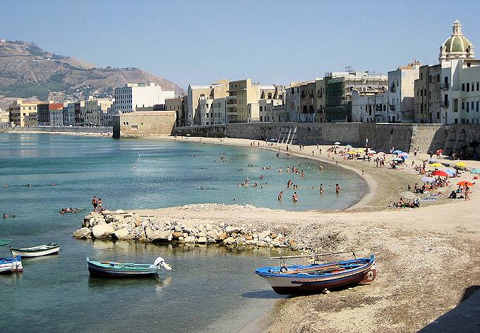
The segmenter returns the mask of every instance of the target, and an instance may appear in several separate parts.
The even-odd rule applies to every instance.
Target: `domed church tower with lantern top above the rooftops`
[[[445,40],[440,47],[438,60],[448,61],[450,59],[473,59],[474,46],[462,34],[462,23],[458,20],[452,25],[452,36]]]

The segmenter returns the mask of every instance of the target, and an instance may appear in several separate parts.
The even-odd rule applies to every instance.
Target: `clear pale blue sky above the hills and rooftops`
[[[136,67],[184,89],[220,78],[260,84],[328,71],[387,73],[436,63],[455,19],[480,57],[476,1],[2,1],[0,38],[95,66]]]

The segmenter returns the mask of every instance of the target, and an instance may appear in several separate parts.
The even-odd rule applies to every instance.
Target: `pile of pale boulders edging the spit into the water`
[[[76,238],[107,238],[154,243],[221,243],[225,246],[291,248],[306,246],[274,230],[258,230],[251,225],[179,223],[157,215],[116,210],[87,215]]]

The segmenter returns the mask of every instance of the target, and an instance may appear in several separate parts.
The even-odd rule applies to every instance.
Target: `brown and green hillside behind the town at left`
[[[169,80],[138,68],[97,68],[69,56],[46,52],[36,44],[0,41],[0,95],[64,101],[94,95],[112,96],[126,83],[155,82],[164,90],[184,92]]]

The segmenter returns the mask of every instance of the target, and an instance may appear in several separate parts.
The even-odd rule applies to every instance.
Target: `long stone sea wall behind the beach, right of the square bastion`
[[[420,147],[423,152],[442,148],[451,154],[480,140],[480,125],[474,124],[422,124],[422,123],[229,123],[227,125],[189,126],[174,128],[175,135],[191,135],[210,138],[245,138],[270,140],[286,138],[294,133],[293,143],[304,145],[332,145],[336,141],[354,147],[368,146],[387,151],[391,147],[413,151]]]

